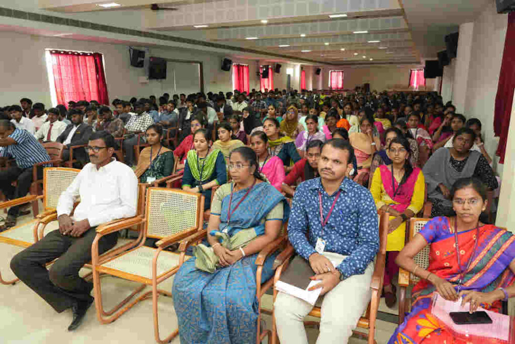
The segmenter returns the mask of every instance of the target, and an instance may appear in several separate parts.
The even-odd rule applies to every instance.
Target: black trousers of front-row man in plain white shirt
[[[77,302],[90,302],[93,283],[83,280],[79,270],[91,260],[95,236],[94,227],[78,238],[62,235],[59,230],[50,232],[15,255],[11,270],[59,313]],[[102,237],[98,242],[99,254],[113,248],[117,239],[118,233]],[[59,259],[47,270],[45,264],[56,258]]]

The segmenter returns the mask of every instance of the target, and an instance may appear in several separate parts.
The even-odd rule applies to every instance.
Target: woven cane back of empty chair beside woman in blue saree
[[[177,189],[148,188],[147,237],[162,239],[192,227],[198,227],[202,214],[201,194]]]

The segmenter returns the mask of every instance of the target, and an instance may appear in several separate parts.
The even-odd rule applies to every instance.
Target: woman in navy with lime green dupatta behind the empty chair
[[[193,134],[195,149],[187,152],[182,176],[182,189],[204,195],[204,210],[211,206],[211,189],[227,182],[224,154],[211,147],[207,129],[198,129]]]

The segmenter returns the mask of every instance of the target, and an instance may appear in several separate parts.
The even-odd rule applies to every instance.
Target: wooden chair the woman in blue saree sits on
[[[255,264],[258,266],[258,269],[256,270],[256,298],[258,299],[258,331],[256,332],[256,344],[260,344],[261,341],[268,336],[268,342],[271,341],[270,337],[272,336],[272,331],[270,330],[264,330],[261,329],[261,313],[267,313],[272,314],[267,309],[264,309],[261,307],[261,298],[263,295],[273,287],[274,279],[269,279],[268,281],[262,280],[262,272],[263,272],[263,266],[265,264],[266,259],[269,255],[277,252],[278,250],[283,249],[286,244],[288,243],[288,239],[286,236],[286,228],[288,224],[285,223],[283,225],[282,233],[276,240],[270,242],[266,247],[261,250],[261,252],[258,254],[255,260]],[[202,230],[198,233],[195,233],[194,235],[187,237],[181,241],[181,244],[179,246],[179,252],[181,252],[181,255],[186,254],[186,249],[190,247],[190,245],[196,244],[200,242],[202,239],[207,237],[207,230]],[[284,252],[283,252],[284,253]],[[273,268],[279,269],[282,268],[285,264],[289,263],[289,257],[288,255],[280,254],[276,257],[276,259],[273,262]],[[277,271],[277,270],[276,270]],[[263,331],[262,331],[263,330]]]

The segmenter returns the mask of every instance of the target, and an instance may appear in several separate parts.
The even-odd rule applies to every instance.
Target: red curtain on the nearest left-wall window
[[[102,54],[51,51],[57,103],[92,101],[109,104]]]

